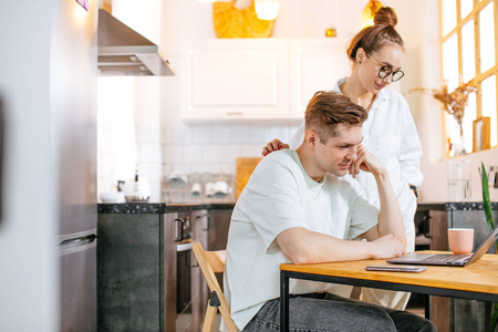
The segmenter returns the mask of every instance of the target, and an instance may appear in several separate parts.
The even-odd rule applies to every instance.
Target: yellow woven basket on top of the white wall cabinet
[[[238,9],[231,2],[212,3],[212,23],[218,38],[267,38],[273,32],[274,20],[260,20],[256,15],[255,2]]]

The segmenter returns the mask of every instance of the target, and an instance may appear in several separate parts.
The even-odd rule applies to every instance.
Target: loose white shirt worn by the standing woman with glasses
[[[333,91],[341,93],[339,86],[346,81],[347,77],[339,80]],[[369,111],[367,120],[363,123],[362,133],[362,145],[387,168],[403,214],[405,231],[414,237],[413,217],[417,201],[408,184],[419,186],[424,179],[421,172],[422,144],[403,95],[390,89],[381,90]],[[304,121],[292,136],[290,148],[298,148],[303,138]],[[360,172],[356,179],[365,189],[372,204],[380,208],[378,189],[374,176]],[[413,248],[407,249],[413,250]]]

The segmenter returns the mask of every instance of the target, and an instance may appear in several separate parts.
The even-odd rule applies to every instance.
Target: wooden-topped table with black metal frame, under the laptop
[[[289,331],[289,279],[291,278],[498,302],[498,255],[485,255],[479,261],[465,268],[427,267],[427,270],[421,273],[365,270],[365,267],[373,264],[387,263],[385,260],[361,260],[302,266],[281,264],[281,331]]]

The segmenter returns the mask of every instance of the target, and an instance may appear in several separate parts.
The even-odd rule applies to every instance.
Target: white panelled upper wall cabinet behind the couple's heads
[[[181,118],[188,123],[295,124],[318,90],[350,69],[336,39],[217,39],[184,50]]]

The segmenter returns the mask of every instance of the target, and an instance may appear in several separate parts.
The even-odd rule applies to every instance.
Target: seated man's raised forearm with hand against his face
[[[378,225],[364,234],[364,237],[372,241],[382,236],[392,234],[403,243],[403,250],[406,250],[406,237],[403,226],[403,216],[394,195],[387,169],[382,163],[363,146],[359,146],[357,159],[351,166],[353,177],[360,172],[372,173],[377,184],[378,197],[381,201],[381,211],[378,214]]]

